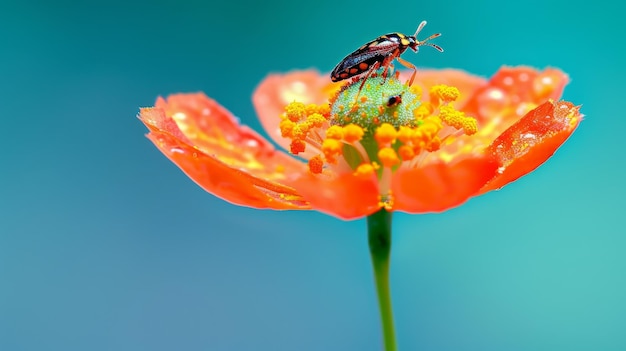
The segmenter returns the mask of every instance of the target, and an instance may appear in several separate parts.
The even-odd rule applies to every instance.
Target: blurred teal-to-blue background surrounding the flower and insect
[[[400,349],[626,349],[626,47],[609,2],[13,1],[0,4],[0,350],[380,350],[363,220],[225,203],[135,115],[204,91],[260,129],[250,97],[267,73],[330,71],[422,19],[446,52],[409,61],[560,67],[587,117],[504,190],[395,216]]]

